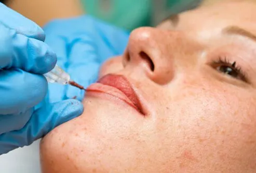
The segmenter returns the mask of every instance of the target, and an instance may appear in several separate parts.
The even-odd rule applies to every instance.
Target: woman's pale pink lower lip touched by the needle
[[[100,95],[96,95],[96,96],[101,96],[106,95],[106,96],[110,96],[111,100],[116,99],[116,100],[120,100],[124,103],[126,103],[127,105],[133,107],[134,109],[136,109],[136,111],[138,111],[139,113],[141,113],[141,111],[132,103],[132,101],[130,99],[127,98],[127,96],[120,90],[118,90],[117,88],[114,88],[112,86],[108,86],[108,85],[103,85],[100,83],[95,83],[90,85],[88,88],[86,88],[86,93],[90,93],[90,92],[94,92],[94,93],[99,93]],[[104,96],[104,98],[106,98]]]

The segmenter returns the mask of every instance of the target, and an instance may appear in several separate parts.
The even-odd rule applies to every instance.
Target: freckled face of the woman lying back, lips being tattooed
[[[42,141],[43,170],[256,172],[255,9],[227,2],[135,29],[83,115]]]

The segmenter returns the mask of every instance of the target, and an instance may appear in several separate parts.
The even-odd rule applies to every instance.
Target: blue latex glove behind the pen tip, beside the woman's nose
[[[84,87],[96,81],[104,60],[123,53],[129,37],[128,32],[90,15],[55,20],[44,30],[45,42],[58,56],[57,64]],[[84,97],[83,90],[69,85],[50,84],[49,88],[52,102],[73,97],[82,100]]]

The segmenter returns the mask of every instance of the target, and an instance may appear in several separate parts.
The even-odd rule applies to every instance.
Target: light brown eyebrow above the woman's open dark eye
[[[240,28],[238,26],[227,26],[222,30],[222,33],[236,34],[236,35],[244,36],[256,41],[256,36],[253,33],[249,32],[246,29]]]

